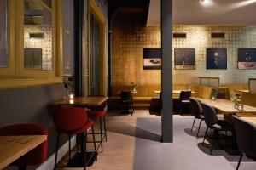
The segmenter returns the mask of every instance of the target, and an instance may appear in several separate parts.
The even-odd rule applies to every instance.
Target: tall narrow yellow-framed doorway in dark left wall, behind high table
[[[106,22],[95,1],[89,1],[89,94],[105,95]]]

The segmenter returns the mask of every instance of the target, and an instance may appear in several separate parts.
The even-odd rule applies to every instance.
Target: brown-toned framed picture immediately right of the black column
[[[195,48],[175,48],[174,69],[195,70]]]

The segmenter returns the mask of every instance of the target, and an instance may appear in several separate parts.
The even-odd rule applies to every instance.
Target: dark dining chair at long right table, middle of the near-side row
[[[218,120],[217,113],[212,106],[202,104],[202,109],[203,109],[205,122],[207,124],[207,130],[203,139],[203,145],[206,137],[208,137],[209,139],[213,139],[212,148],[211,148],[211,155],[212,155],[213,145],[216,144],[216,139],[218,139],[219,132],[224,131],[227,135],[227,132],[230,131],[233,134],[234,128],[229,122],[225,122],[224,120]],[[213,130],[213,134],[214,134],[213,138],[211,138],[207,134],[209,129]]]

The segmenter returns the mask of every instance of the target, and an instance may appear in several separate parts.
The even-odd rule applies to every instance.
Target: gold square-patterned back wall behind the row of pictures
[[[124,17],[124,16],[122,16]],[[139,19],[119,17],[113,26],[113,85],[160,84],[159,70],[143,70],[143,48],[160,48],[160,26],[141,26]],[[122,18],[122,19],[121,19]],[[256,71],[237,70],[237,48],[256,48],[256,26],[173,26],[185,39],[173,39],[174,48],[195,48],[195,70],[173,70],[173,83],[198,83],[198,77],[220,77],[220,83],[247,83]],[[211,38],[224,32],[225,38]],[[206,49],[227,48],[227,70],[206,70]]]

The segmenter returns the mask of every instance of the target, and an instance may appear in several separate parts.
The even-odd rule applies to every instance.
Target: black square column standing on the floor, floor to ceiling
[[[173,142],[172,120],[172,0],[161,0],[162,142]]]

